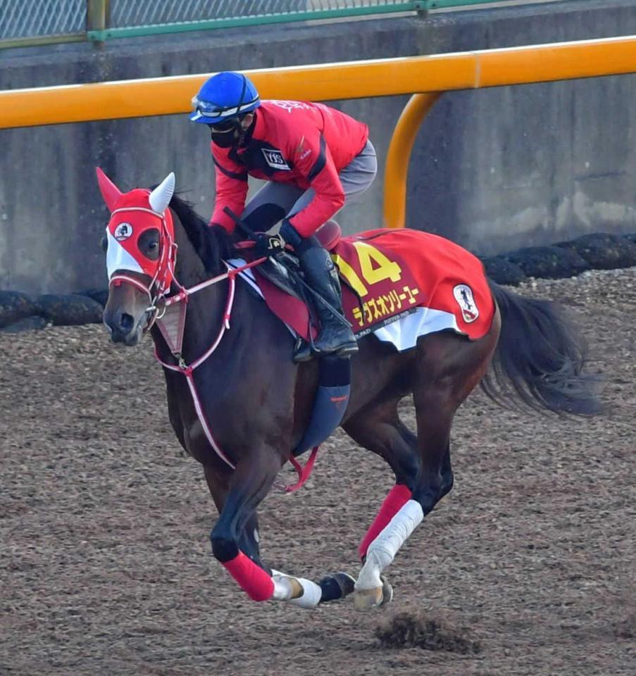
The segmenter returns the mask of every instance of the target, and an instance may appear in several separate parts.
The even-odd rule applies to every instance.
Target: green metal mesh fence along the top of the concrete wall
[[[0,47],[425,12],[509,0],[0,0]],[[546,0],[550,1],[550,0]]]

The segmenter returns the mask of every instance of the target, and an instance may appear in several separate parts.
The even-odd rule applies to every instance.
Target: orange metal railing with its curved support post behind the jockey
[[[635,73],[636,36],[244,72],[263,98],[330,101],[415,92],[397,123],[385,170],[385,225],[401,227],[411,148],[439,93]],[[0,129],[185,113],[210,75],[0,92]]]

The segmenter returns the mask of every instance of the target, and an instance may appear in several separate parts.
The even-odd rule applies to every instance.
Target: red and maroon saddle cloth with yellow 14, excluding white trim
[[[336,223],[320,232],[342,280],[342,305],[361,337],[416,308],[454,315],[456,331],[471,340],[492,324],[494,302],[481,261],[449,239],[428,232],[383,228],[339,238]],[[337,230],[335,230],[335,228]],[[321,230],[324,229],[321,228]],[[308,338],[310,314],[256,272],[266,303],[299,335]]]

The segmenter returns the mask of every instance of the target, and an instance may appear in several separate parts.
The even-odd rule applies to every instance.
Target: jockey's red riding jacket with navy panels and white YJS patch
[[[216,204],[211,223],[232,232],[225,206],[240,214],[247,176],[292,183],[316,191],[311,202],[289,219],[301,237],[310,237],[344,204],[339,172],[365,146],[367,125],[335,108],[306,101],[263,101],[251,138],[240,148],[211,144],[216,165]]]

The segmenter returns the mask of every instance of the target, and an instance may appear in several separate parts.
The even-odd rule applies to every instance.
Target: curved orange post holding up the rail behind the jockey
[[[413,94],[397,120],[385,165],[385,227],[404,227],[406,223],[406,179],[411,150],[422,120],[441,93]]]

